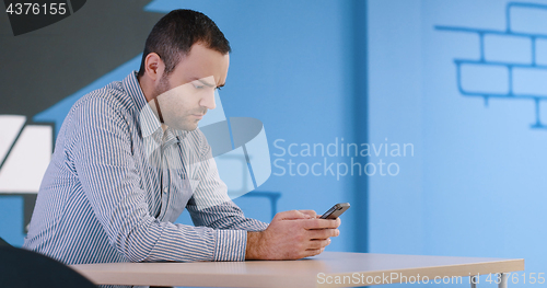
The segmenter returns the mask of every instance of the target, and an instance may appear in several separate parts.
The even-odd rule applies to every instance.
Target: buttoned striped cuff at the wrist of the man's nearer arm
[[[245,261],[247,231],[216,230],[217,243],[213,261]]]

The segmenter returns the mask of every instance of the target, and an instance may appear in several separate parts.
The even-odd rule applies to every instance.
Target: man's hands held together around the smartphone
[[[313,210],[279,212],[261,232],[247,232],[245,260],[299,260],[321,254],[337,237],[340,219],[318,219]]]

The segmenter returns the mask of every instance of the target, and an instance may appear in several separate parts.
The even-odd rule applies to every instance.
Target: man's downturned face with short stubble
[[[228,54],[194,44],[175,70],[163,74],[155,87],[164,123],[173,129],[196,129],[207,111],[216,107],[214,90],[224,85],[229,65]]]

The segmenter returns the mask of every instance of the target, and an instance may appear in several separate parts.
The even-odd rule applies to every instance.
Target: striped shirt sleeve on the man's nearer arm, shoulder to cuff
[[[121,111],[101,97],[80,103],[67,142],[74,151],[81,188],[109,244],[130,262],[244,260],[244,230],[161,222],[149,214],[125,118],[129,116]]]

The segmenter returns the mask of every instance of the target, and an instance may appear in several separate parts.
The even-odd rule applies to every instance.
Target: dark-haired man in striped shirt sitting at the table
[[[150,33],[140,71],[79,100],[57,138],[24,247],[66,264],[296,260],[339,220],[286,211],[268,226],[226,195],[197,129],[225,83],[230,45],[206,15],[175,10]],[[196,227],[173,223],[184,208]]]

